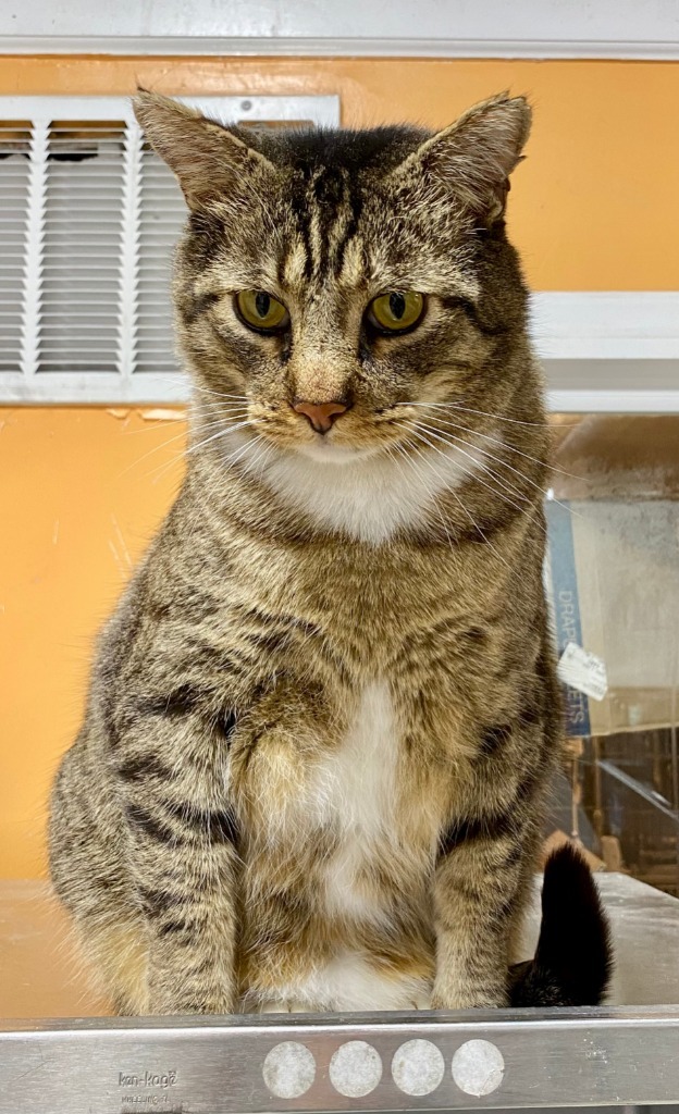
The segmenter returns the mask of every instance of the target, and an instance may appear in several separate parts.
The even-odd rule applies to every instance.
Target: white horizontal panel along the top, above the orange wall
[[[0,50],[677,58],[676,0],[2,0]]]

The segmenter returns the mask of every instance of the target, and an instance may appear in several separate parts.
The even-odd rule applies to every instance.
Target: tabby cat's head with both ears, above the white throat
[[[498,346],[524,328],[502,212],[525,101],[437,136],[225,130],[149,95],[137,108],[192,211],[175,302],[198,417],[342,463],[410,443],[425,403],[488,410]]]

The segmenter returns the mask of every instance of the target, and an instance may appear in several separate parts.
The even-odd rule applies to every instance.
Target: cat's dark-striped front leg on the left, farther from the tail
[[[205,754],[208,742],[215,750],[206,740]],[[234,1013],[235,815],[210,763],[168,765],[167,776],[157,772],[162,759],[148,765],[143,791],[138,778],[123,786],[127,868],[147,940],[144,1013]]]

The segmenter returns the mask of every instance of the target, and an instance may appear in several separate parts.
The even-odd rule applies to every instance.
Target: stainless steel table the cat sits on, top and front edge
[[[679,1111],[679,901],[598,881],[618,956],[605,1008],[145,1020],[103,1016],[47,889],[8,882],[0,1112]]]

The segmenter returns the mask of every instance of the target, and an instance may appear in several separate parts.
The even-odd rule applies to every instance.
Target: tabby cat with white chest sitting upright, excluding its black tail
[[[191,447],[56,781],[56,889],[123,1013],[525,1000],[560,739],[504,224],[528,106],[437,134],[136,110],[190,208]]]

